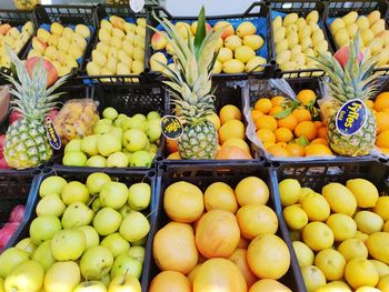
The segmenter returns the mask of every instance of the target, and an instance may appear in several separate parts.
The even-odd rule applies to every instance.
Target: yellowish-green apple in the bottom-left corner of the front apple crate
[[[43,285],[43,278],[42,265],[34,261],[26,261],[6,278],[4,288],[9,292],[37,292]]]

